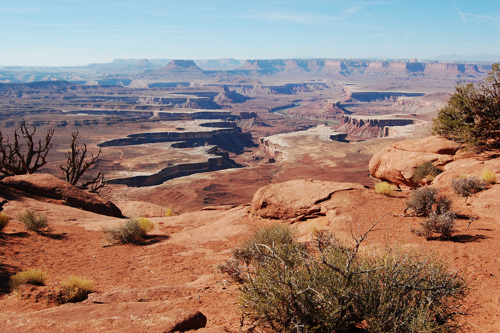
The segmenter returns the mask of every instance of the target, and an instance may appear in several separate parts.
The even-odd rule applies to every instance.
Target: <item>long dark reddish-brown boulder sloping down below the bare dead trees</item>
[[[0,184],[22,192],[29,192],[49,199],[64,200],[70,206],[92,213],[123,217],[111,201],[85,192],[52,175],[37,173],[5,177]]]

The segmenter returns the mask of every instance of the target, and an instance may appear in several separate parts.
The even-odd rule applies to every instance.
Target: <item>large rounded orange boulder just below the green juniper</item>
[[[456,142],[442,137],[430,136],[423,139],[396,142],[373,155],[368,167],[371,176],[394,184],[417,186],[411,177],[415,169],[430,161],[436,167],[453,161],[458,149]]]

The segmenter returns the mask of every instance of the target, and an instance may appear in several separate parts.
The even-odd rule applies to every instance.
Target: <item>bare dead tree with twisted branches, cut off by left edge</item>
[[[19,143],[21,132],[22,137],[26,140],[26,145]],[[4,137],[0,131],[0,172],[6,176],[16,176],[32,174],[41,166],[47,164],[46,157],[52,144],[50,139],[54,134],[53,128],[50,128],[45,133],[44,143],[41,139],[36,143],[33,136],[36,132],[36,127],[30,132],[26,128],[26,122],[22,120],[22,124],[14,131],[14,142],[11,142],[8,137]]]

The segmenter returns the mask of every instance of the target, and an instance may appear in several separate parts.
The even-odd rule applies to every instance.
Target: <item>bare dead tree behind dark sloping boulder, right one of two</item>
[[[99,158],[101,148],[97,155],[90,153],[90,158],[87,159],[87,146],[80,144],[77,140],[80,139],[78,131],[71,133],[71,150],[66,153],[66,166],[59,166],[63,175],[66,177],[66,182],[74,185],[82,190],[88,190],[92,193],[102,195],[101,191],[107,186],[106,172],[97,170],[97,175],[87,178],[83,174],[92,166],[97,167],[97,159]],[[78,181],[83,179],[83,181]],[[104,194],[107,195],[108,193]]]

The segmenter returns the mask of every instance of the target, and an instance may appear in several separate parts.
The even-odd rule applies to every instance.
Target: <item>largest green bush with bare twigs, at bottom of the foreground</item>
[[[253,232],[219,267],[241,283],[242,315],[274,332],[456,330],[464,279],[435,253],[361,251],[367,233],[347,245],[315,230],[314,246],[306,246],[276,223]]]

